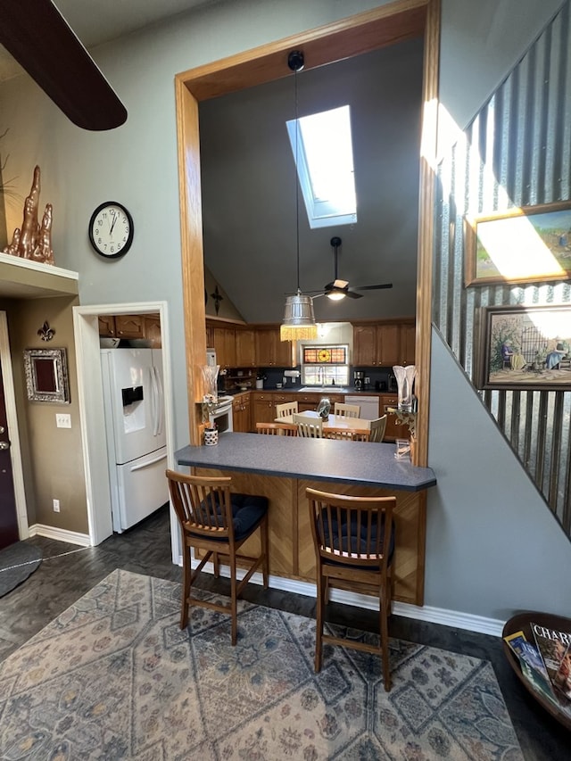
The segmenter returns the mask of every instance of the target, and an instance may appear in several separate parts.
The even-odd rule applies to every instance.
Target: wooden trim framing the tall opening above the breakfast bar
[[[203,394],[201,365],[206,352],[203,297],[203,226],[200,185],[200,135],[198,104],[287,76],[287,53],[302,47],[305,68],[311,69],[354,55],[368,53],[412,37],[425,37],[423,145],[435,153],[440,0],[397,0],[372,11],[286,37],[269,45],[191,69],[175,78],[178,136],[178,184],[180,199],[183,304],[185,310],[186,368],[189,430],[192,444],[200,443],[200,408]],[[417,337],[420,432],[416,459],[426,465],[428,427],[428,380],[432,313],[432,216],[434,163],[421,161],[418,228]]]

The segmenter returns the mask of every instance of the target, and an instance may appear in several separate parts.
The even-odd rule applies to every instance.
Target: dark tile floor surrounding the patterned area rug
[[[44,560],[26,582],[0,599],[0,659],[20,647],[115,568],[177,582],[181,577],[181,569],[170,559],[170,521],[166,506],[128,532],[114,534],[98,547],[78,550],[76,545],[42,537],[34,537],[29,542],[42,548]],[[217,581],[211,575],[203,575],[201,585],[222,592],[228,588],[226,580]],[[250,584],[244,590],[244,598],[302,616],[315,615],[315,600],[291,592],[264,591]],[[361,629],[377,628],[376,614],[360,608],[333,603],[328,608],[328,616],[329,620],[339,623],[351,621]],[[490,660],[526,761],[571,759],[571,732],[538,706],[521,686],[503,655],[499,638],[400,616],[392,616],[389,627],[393,637]]]

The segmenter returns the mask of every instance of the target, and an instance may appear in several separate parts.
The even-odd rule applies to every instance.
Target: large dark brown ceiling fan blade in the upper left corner
[[[127,109],[51,0],[3,0],[0,43],[78,127],[120,127]]]

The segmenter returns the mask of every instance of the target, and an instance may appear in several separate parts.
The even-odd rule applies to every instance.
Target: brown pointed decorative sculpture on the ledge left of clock
[[[39,203],[39,167],[34,170],[34,179],[29,196],[24,203],[24,219],[22,226],[16,227],[12,243],[4,248],[4,253],[20,256],[22,259],[43,261],[54,264],[52,250],[52,204],[46,203],[46,211],[41,225],[37,221],[37,206]]]

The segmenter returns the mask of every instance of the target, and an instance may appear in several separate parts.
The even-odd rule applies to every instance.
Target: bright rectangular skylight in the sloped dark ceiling
[[[357,221],[351,112],[348,105],[286,122],[310,227]],[[296,151],[297,147],[297,151]]]

